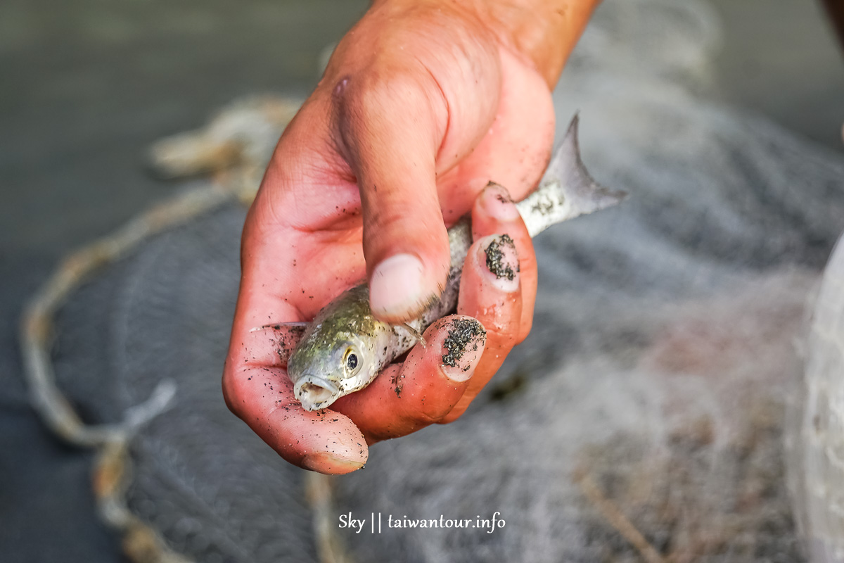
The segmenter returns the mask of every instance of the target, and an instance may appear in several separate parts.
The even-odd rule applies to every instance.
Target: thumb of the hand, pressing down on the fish
[[[451,263],[436,191],[446,102],[436,82],[407,71],[344,78],[334,97],[360,189],[371,309],[404,322],[441,294]]]

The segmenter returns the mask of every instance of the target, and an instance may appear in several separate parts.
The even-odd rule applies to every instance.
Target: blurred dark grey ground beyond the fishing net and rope
[[[95,516],[92,455],[62,445],[27,403],[17,323],[67,252],[172,186],[149,144],[240,95],[306,95],[357,0],[6,0],[0,4],[0,554],[117,561]],[[820,3],[711,0],[724,28],[707,97],[844,153],[844,60]],[[8,557],[7,557],[8,556]]]

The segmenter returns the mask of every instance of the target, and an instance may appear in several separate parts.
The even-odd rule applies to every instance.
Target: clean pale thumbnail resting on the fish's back
[[[397,254],[378,264],[370,280],[370,306],[376,317],[414,313],[422,300],[422,263],[411,254]]]

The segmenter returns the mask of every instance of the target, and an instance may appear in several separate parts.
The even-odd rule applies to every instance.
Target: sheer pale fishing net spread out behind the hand
[[[97,494],[133,557],[803,560],[785,403],[844,230],[844,160],[706,101],[717,44],[703,3],[603,3],[555,105],[560,127],[580,110],[584,161],[630,198],[538,238],[533,333],[460,420],[330,482],[223,403],[245,208],[214,192],[180,226],[123,233],[119,259],[65,288],[50,360],[84,423],[65,433],[105,452]],[[338,528],[349,512],[362,532]],[[495,513],[492,531],[387,525]]]

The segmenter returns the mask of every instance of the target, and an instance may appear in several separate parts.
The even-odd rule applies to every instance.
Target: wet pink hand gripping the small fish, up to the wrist
[[[328,474],[360,468],[368,444],[456,419],[533,317],[527,231],[506,194],[479,193],[490,180],[516,200],[535,187],[554,134],[546,78],[463,12],[396,9],[376,3],[341,41],[279,141],[243,231],[226,403],[284,459]],[[447,326],[437,324],[426,349],[364,391],[332,409],[301,409],[274,339],[250,329],[308,320],[368,274],[377,316],[412,317],[445,279],[446,226],[469,212],[476,240],[511,235],[521,273],[515,290],[502,289],[477,248],[469,252],[458,312],[482,322],[488,337],[461,381],[441,368]],[[403,284],[390,279],[407,280],[403,272],[373,277],[397,255],[417,258],[421,273]],[[390,384],[397,375],[400,398]]]

